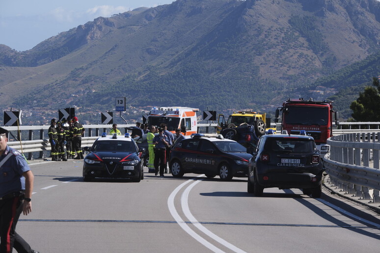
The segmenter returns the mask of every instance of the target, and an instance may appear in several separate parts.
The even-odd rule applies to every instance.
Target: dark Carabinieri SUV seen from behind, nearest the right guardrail
[[[314,139],[306,135],[268,134],[256,149],[248,149],[247,192],[261,196],[264,188],[300,188],[303,194],[320,198],[323,164]]]

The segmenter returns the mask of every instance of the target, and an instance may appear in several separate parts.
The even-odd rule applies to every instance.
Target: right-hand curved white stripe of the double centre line
[[[203,175],[202,175],[203,176]],[[195,217],[191,214],[190,212],[190,208],[189,208],[189,193],[192,189],[192,187],[194,187],[197,183],[203,181],[203,179],[198,179],[196,180],[195,182],[193,182],[192,184],[190,184],[188,187],[186,187],[184,193],[182,194],[181,196],[181,204],[182,204],[182,210],[185,214],[185,216],[189,219],[189,221],[196,227],[198,228],[199,230],[201,230],[202,232],[204,232],[206,235],[208,235],[209,237],[211,237],[212,239],[216,240],[218,243],[220,243],[221,245],[227,247],[228,249],[234,251],[234,252],[238,252],[238,253],[245,253],[245,251],[239,249],[238,247],[232,245],[231,243],[225,241],[224,239],[220,238],[219,236],[217,236],[216,234],[214,234],[213,232],[211,232],[209,229],[205,228],[202,224],[200,224],[196,219]]]

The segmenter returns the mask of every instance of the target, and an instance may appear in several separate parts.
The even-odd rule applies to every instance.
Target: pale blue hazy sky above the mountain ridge
[[[60,32],[97,17],[175,0],[0,0],[0,44],[17,51],[33,48]]]

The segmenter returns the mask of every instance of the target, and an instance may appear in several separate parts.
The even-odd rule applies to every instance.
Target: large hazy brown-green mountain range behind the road
[[[113,109],[115,97],[126,97],[134,106],[278,106],[377,53],[379,21],[376,0],[177,0],[138,8],[29,51],[0,45],[0,105]]]

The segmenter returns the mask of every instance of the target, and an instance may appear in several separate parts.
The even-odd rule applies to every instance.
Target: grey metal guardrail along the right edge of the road
[[[324,164],[331,182],[356,197],[380,202],[379,138],[379,131],[329,138],[330,152],[325,155]]]

